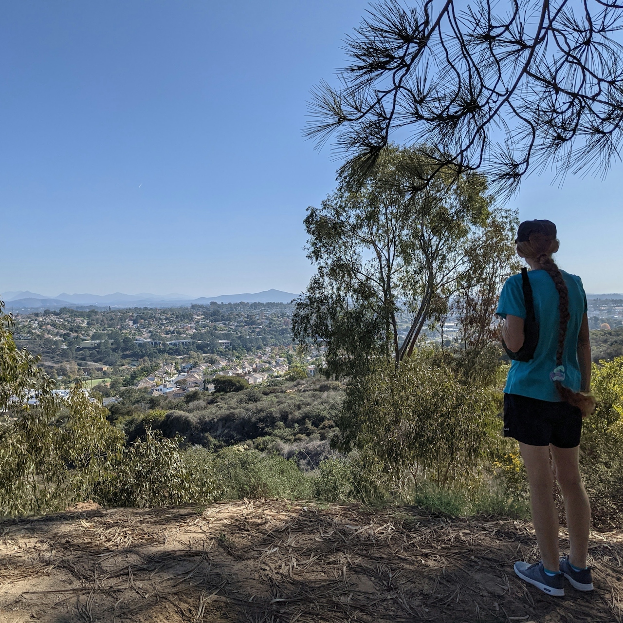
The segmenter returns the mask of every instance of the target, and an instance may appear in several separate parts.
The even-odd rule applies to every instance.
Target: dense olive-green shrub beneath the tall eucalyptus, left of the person
[[[399,491],[420,480],[444,488],[478,478],[499,434],[499,408],[494,389],[462,384],[434,351],[421,350],[399,368],[383,360],[349,385],[335,439],[376,457]]]

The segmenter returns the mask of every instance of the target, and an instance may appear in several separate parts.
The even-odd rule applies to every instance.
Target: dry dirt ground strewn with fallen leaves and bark
[[[592,535],[589,594],[525,586],[535,556],[527,522],[409,508],[78,511],[0,522],[0,621],[621,622],[623,531]]]

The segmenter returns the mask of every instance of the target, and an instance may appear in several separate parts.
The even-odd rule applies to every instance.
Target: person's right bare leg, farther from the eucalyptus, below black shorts
[[[578,449],[550,446],[556,467],[556,480],[564,498],[564,510],[569,530],[569,562],[586,567],[588,534],[591,528],[591,505],[584,490],[578,465]]]

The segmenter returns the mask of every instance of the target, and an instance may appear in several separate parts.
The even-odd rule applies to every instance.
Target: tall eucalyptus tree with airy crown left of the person
[[[330,374],[364,375],[379,356],[399,365],[457,292],[508,276],[513,213],[493,204],[475,173],[457,179],[442,168],[412,192],[435,168],[425,148],[390,146],[363,183],[351,185],[346,169],[320,208],[308,208],[308,258],[318,270],[296,303],[293,333],[326,345]]]

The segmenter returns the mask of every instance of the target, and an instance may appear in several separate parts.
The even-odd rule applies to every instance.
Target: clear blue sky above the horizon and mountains
[[[0,292],[298,292],[302,220],[335,183],[302,138],[356,0],[4,2]],[[558,225],[562,268],[623,291],[623,168],[530,178],[510,205]]]

